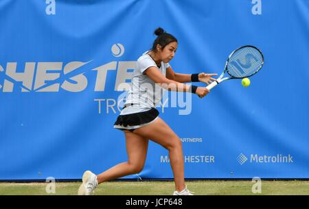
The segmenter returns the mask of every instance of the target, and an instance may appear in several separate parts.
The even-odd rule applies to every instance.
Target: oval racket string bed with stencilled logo
[[[258,72],[263,62],[259,50],[254,47],[242,47],[230,56],[227,71],[232,77],[245,78]]]

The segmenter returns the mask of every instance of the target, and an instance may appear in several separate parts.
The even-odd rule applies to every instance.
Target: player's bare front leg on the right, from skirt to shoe
[[[183,146],[179,137],[172,131],[170,126],[161,118],[155,122],[136,129],[134,133],[148,138],[168,149],[170,164],[174,173],[175,188],[177,191],[185,189]]]

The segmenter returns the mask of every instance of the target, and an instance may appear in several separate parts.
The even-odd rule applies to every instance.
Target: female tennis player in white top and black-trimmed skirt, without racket
[[[159,118],[159,111],[155,106],[161,100],[161,87],[170,91],[191,92],[203,98],[209,93],[208,89],[183,83],[201,81],[209,85],[211,80],[216,80],[211,76],[217,74],[175,73],[169,62],[177,50],[177,39],[162,28],[157,28],[155,34],[157,39],[152,49],[137,60],[124,109],[114,124],[115,129],[124,131],[128,162],[117,164],[100,175],[85,171],[78,195],[91,195],[95,187],[104,181],[141,172],[146,161],[148,140],[169,151],[174,174],[174,195],[192,195],[185,186],[182,142],[170,126]],[[160,87],[156,88],[156,85]]]

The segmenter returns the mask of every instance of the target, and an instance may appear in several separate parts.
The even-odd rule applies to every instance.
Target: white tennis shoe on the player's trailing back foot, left
[[[82,175],[82,185],[78,188],[78,195],[93,195],[94,189],[97,186],[97,176],[90,170],[87,170]]]

